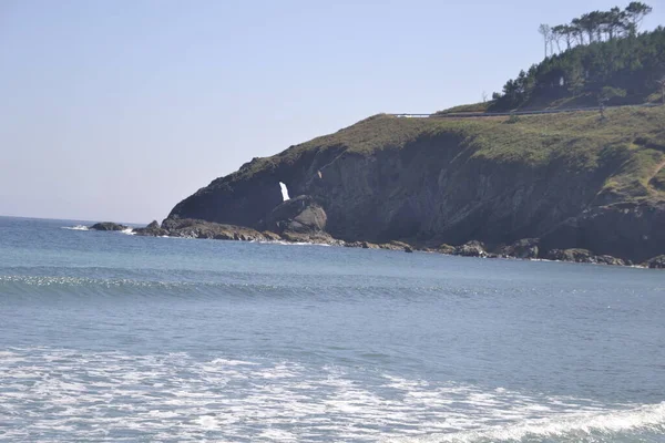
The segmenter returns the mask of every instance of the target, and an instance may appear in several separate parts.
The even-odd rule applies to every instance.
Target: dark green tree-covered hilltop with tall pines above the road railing
[[[570,24],[541,24],[545,59],[509,80],[493,94],[488,111],[664,100],[665,28],[638,33],[651,11],[632,2],[624,10],[586,13]]]

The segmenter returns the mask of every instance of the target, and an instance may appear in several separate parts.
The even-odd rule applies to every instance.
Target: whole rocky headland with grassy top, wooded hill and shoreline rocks
[[[135,233],[663,268],[665,29],[626,30],[492,100],[254,158]]]

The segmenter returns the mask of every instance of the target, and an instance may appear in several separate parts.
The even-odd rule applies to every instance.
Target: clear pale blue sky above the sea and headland
[[[0,215],[161,220],[254,156],[478,102],[539,23],[624,3],[0,0]]]

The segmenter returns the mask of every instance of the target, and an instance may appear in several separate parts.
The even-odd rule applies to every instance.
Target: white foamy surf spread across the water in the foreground
[[[665,403],[269,359],[33,348],[0,353],[0,419],[8,441],[610,442],[665,432]]]

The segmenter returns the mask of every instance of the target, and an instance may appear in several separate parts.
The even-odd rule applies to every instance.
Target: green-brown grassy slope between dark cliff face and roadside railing
[[[489,162],[545,166],[563,159],[567,167],[591,173],[600,165],[621,159],[607,176],[602,193],[616,199],[662,198],[665,161],[665,107],[608,110],[606,120],[597,113],[482,119],[405,119],[377,115],[335,134],[290,147],[273,157],[260,158],[243,174],[266,164],[294,164],[313,150],[342,147],[345,152],[375,155],[379,151],[405,148],[421,137],[449,135],[462,140],[474,158]],[[432,156],[437,152],[431,152]]]

